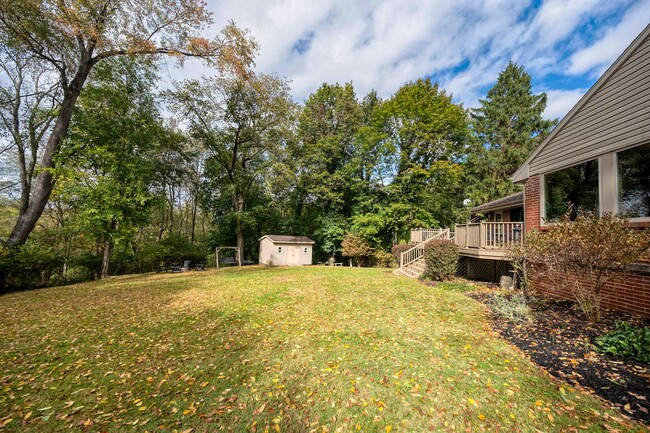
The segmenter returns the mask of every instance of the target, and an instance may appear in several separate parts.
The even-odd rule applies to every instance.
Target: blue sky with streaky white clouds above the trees
[[[562,117],[650,22],[650,0],[208,0],[260,43],[257,70],[302,102],[323,82],[390,97],[419,77],[475,107],[509,60]],[[186,76],[205,74],[198,65]],[[179,78],[179,77],[176,77]]]

